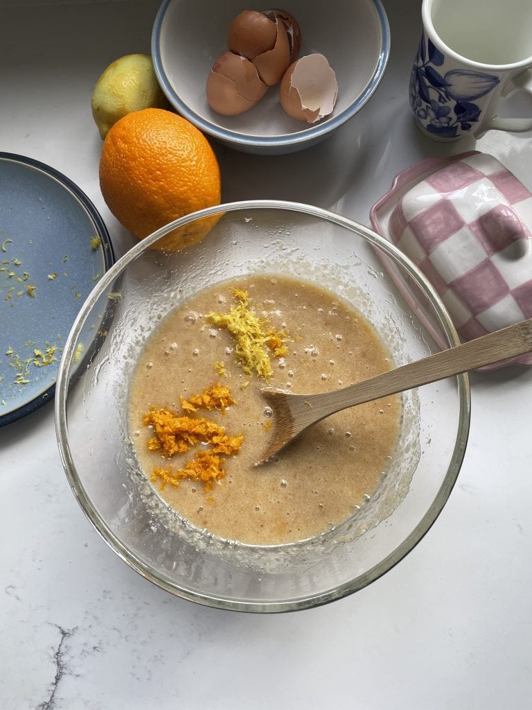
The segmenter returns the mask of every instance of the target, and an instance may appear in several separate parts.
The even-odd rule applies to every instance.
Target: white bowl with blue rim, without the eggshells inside
[[[240,116],[221,116],[207,103],[206,79],[227,51],[231,21],[243,9],[266,7],[235,0],[164,0],[153,26],[157,80],[174,109],[208,136],[246,153],[292,153],[323,141],[365,106],[389,57],[389,24],[380,0],[287,0],[281,5],[301,27],[299,56],[321,53],[336,72],[336,106],[317,124],[288,116],[278,86]]]

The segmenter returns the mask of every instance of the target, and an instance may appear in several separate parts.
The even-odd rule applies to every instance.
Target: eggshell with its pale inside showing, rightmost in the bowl
[[[337,96],[336,75],[322,54],[306,55],[290,65],[279,88],[287,114],[309,124],[332,114]]]

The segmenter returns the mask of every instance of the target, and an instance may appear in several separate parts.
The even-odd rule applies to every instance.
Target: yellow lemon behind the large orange
[[[92,92],[92,115],[102,140],[126,114],[167,105],[152,58],[145,54],[128,54],[112,62]]]

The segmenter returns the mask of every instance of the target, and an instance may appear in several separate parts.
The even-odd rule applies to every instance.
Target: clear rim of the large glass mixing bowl
[[[333,589],[328,589],[318,594],[301,596],[284,601],[242,601],[199,594],[198,592],[187,589],[184,586],[173,584],[169,580],[160,576],[157,570],[145,564],[141,559],[133,555],[133,553],[128,550],[125,545],[123,545],[121,540],[118,539],[118,537],[106,524],[106,521],[101,518],[98,511],[94,508],[94,506],[92,506],[92,501],[85,493],[82,481],[77,476],[77,471],[74,466],[74,460],[72,459],[68,441],[66,413],[66,400],[69,386],[68,373],[72,360],[75,356],[76,343],[79,334],[82,332],[82,327],[87,320],[87,315],[92,310],[101,294],[104,293],[106,288],[113,283],[119,273],[121,273],[121,271],[123,271],[129,263],[134,261],[141,252],[148,249],[151,244],[157,241],[157,239],[160,239],[160,237],[165,236],[165,234],[172,231],[172,229],[189,224],[189,222],[194,222],[195,219],[199,219],[200,217],[209,217],[213,214],[218,214],[219,212],[237,212],[238,210],[242,211],[246,209],[284,209],[287,211],[299,212],[301,214],[309,214],[311,217],[325,219],[328,222],[338,224],[339,226],[343,226],[350,231],[360,234],[360,236],[363,236],[369,244],[377,246],[387,256],[391,257],[393,261],[399,263],[399,265],[404,268],[409,277],[414,280],[416,285],[418,285],[428,297],[428,300],[431,302],[431,305],[436,312],[440,325],[443,327],[443,331],[445,332],[448,341],[453,345],[458,345],[460,343],[458,333],[456,332],[443,301],[440,299],[438,293],[436,293],[432,285],[428,283],[426,278],[423,276],[423,273],[421,273],[419,268],[417,268],[414,263],[404,255],[404,253],[399,251],[394,244],[387,241],[387,239],[384,239],[384,237],[379,236],[376,232],[352,219],[348,219],[347,217],[342,217],[334,212],[328,212],[326,209],[313,207],[308,204],[301,204],[299,202],[284,202],[282,200],[243,200],[240,202],[228,202],[227,204],[220,204],[216,207],[208,207],[206,209],[201,209],[198,212],[192,212],[186,217],[176,219],[174,222],[170,222],[170,224],[157,229],[157,231],[153,234],[150,234],[150,236],[145,237],[145,239],[140,241],[138,244],[135,244],[132,249],[118,259],[118,261],[111,266],[109,271],[106,271],[106,273],[101,277],[95,288],[87,297],[87,300],[82,305],[79,315],[74,321],[70,334],[65,342],[59,372],[57,373],[55,395],[56,437],[67,479],[79,505],[85,515],[87,515],[90,523],[92,523],[96,529],[96,532],[98,532],[109,547],[116,552],[118,557],[121,557],[126,564],[135,569],[135,572],[138,572],[142,577],[145,577],[145,579],[152,581],[153,584],[156,584],[161,589],[165,589],[165,591],[169,591],[176,596],[182,597],[182,599],[204,604],[204,606],[230,609],[233,611],[297,611],[304,608],[320,606],[321,604],[328,603],[335,599],[340,599],[343,596],[348,596],[348,594],[353,594],[353,592],[359,591],[372,581],[382,577],[382,575],[385,572],[388,572],[389,569],[392,569],[392,567],[394,567],[401,559],[406,557],[406,555],[414,549],[422,537],[426,535],[426,532],[428,532],[436,518],[438,518],[441,510],[443,510],[443,506],[445,506],[450,492],[453,490],[453,486],[458,477],[460,466],[462,465],[462,459],[465,454],[470,425],[470,387],[467,373],[457,376],[460,414],[458,419],[458,435],[455,441],[453,456],[451,457],[443,484],[440,486],[440,489],[430,508],[428,508],[416,528],[412,530],[410,535],[406,537],[406,539],[403,540],[395,548],[395,550],[393,550],[393,552],[360,577],[356,577],[355,579],[345,582],[345,584],[340,584]]]

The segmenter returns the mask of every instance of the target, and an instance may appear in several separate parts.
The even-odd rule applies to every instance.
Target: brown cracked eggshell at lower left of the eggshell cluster
[[[207,102],[223,116],[238,116],[253,109],[266,91],[255,65],[231,52],[218,57],[207,77]]]

